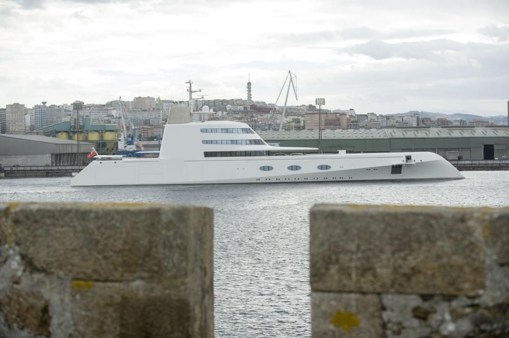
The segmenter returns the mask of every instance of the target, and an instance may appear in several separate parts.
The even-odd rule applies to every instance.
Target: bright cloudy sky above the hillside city
[[[289,105],[505,115],[509,0],[0,1],[0,107],[245,99],[248,76],[274,103],[289,70]]]

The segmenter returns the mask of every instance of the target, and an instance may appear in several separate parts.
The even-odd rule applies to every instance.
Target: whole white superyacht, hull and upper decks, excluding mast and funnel
[[[432,152],[306,155],[316,151],[267,145],[240,122],[168,124],[158,158],[100,157],[71,186],[464,178]]]

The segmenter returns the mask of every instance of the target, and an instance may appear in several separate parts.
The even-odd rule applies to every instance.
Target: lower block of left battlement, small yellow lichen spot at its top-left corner
[[[145,282],[86,283],[73,281],[74,332],[78,336],[212,337],[212,323],[199,325],[195,306],[182,285]],[[212,317],[209,317],[212,318]]]

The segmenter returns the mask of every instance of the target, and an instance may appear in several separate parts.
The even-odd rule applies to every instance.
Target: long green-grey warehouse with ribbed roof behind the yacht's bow
[[[268,143],[319,147],[323,152],[431,151],[449,160],[509,159],[507,126],[322,130],[320,146],[318,130],[266,130],[257,133]],[[451,158],[451,154],[456,158]]]

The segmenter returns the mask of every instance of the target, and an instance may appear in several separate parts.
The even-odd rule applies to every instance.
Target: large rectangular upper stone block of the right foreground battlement
[[[477,295],[485,286],[482,209],[316,205],[313,291]]]

